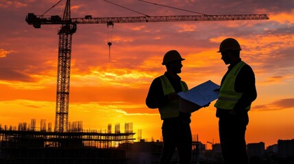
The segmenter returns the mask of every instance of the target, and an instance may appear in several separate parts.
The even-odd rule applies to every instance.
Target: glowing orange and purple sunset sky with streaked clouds
[[[59,0],[0,0],[0,124],[41,119],[54,125],[58,30],[60,25],[35,29],[25,22],[29,12],[43,14]],[[62,16],[65,0],[46,15]],[[195,15],[136,0],[72,0],[71,17]],[[219,84],[227,66],[217,53],[219,43],[236,38],[241,58],[256,74],[258,98],[249,111],[247,143],[294,139],[294,1],[291,0],[170,0],[153,3],[204,14],[267,14],[269,20],[175,23],[118,23],[112,32],[104,24],[77,25],[71,53],[69,122],[104,131],[108,124],[133,122],[144,139],[160,139],[157,109],[145,98],[151,81],[163,74],[164,53],[179,51],[186,60],[180,77],[189,88],[211,80]],[[110,27],[111,31],[111,27]],[[109,35],[108,35],[109,34]],[[109,39],[108,39],[109,38]],[[111,41],[110,59],[107,42]],[[219,143],[215,101],[192,114],[193,135]],[[135,135],[135,137],[137,137]]]

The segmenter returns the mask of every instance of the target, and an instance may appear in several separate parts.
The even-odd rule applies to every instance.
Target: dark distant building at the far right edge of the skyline
[[[291,140],[278,140],[278,155],[281,158],[294,156],[294,139]]]

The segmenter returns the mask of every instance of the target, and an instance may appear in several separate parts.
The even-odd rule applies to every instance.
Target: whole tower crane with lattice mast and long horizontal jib
[[[189,15],[189,16],[129,16],[129,17],[103,17],[71,18],[71,1],[66,0],[62,18],[58,15],[37,16],[28,13],[25,20],[29,25],[40,28],[41,25],[61,25],[58,31],[58,73],[56,89],[56,120],[55,131],[66,132],[69,118],[69,86],[71,71],[71,45],[73,33],[77,24],[114,24],[114,23],[156,23],[177,21],[212,21],[212,20],[265,20],[266,14],[230,14],[230,15]]]

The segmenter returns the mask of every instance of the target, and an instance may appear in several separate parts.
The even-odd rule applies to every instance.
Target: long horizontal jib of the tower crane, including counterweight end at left
[[[92,18],[70,18],[62,20],[60,16],[36,16],[29,13],[25,19],[29,25],[62,25],[62,24],[103,24],[103,23],[147,23],[147,22],[177,22],[177,21],[212,21],[212,20],[267,20],[266,14],[230,14],[230,15],[192,15],[192,16],[125,16]]]

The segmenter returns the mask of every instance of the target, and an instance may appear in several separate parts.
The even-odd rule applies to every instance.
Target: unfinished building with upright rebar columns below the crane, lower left
[[[120,132],[119,124],[114,133],[111,124],[104,133],[79,128],[63,133],[35,130],[25,126],[0,127],[0,163],[130,163],[127,148],[134,142],[132,123],[125,124],[125,133]]]

